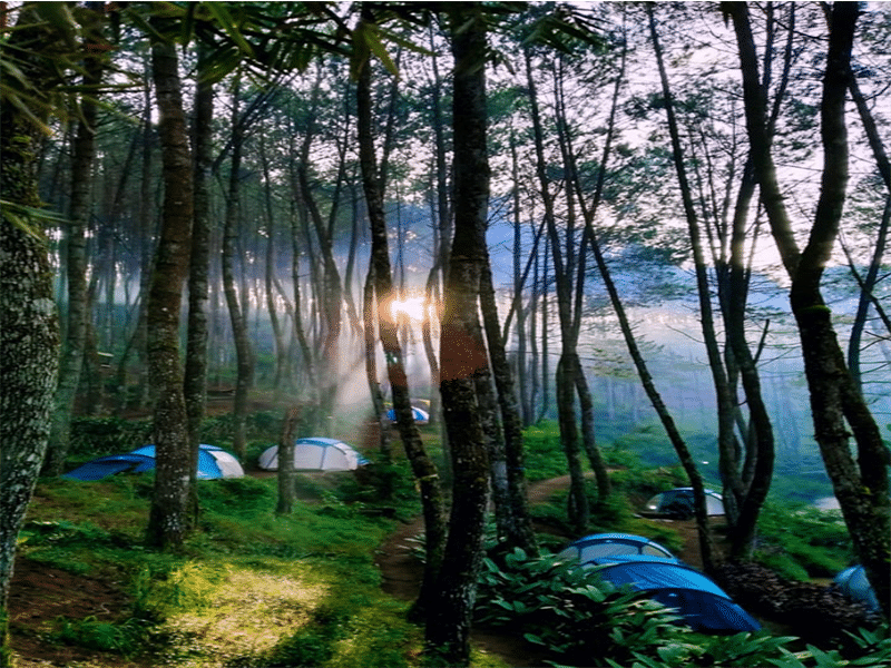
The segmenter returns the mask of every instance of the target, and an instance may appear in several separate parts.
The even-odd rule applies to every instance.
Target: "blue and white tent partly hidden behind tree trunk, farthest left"
[[[143,445],[131,452],[109,454],[87,462],[62,474],[71,480],[95,481],[108,478],[116,473],[145,473],[155,469],[155,446]],[[244,470],[238,460],[231,453],[216,445],[202,444],[198,446],[198,480],[214,480],[218,478],[242,478]]]

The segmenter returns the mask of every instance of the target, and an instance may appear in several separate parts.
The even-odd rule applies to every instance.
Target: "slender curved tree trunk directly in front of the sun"
[[[373,21],[373,14],[368,8],[363,9],[362,20],[363,22]],[[427,453],[418,425],[414,422],[409,394],[409,379],[405,374],[402,348],[399,344],[395,314],[391,308],[394,296],[393,279],[386,239],[383,187],[381,185],[381,175],[378,170],[372,135],[371,62],[369,60],[361,63],[359,72],[356,118],[362,185],[371,225],[371,264],[373,269],[370,269],[370,272],[374,279],[374,297],[378,304],[376,320],[380,327],[384,360],[386,361],[386,374],[390,380],[396,425],[405,455],[421,490],[427,559],[424,561],[424,578],[421,583],[421,592],[414,608],[415,613],[422,616],[435,610],[440,603],[434,596],[438,593],[437,583],[443,563],[446,521],[439,473]]]

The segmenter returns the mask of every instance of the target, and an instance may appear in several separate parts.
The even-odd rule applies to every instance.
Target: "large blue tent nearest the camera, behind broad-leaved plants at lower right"
[[[699,571],[662,557],[621,554],[587,564],[617,587],[645,591],[655,601],[674,608],[695,631],[724,633],[756,631],[761,625],[733,602],[721,587]]]

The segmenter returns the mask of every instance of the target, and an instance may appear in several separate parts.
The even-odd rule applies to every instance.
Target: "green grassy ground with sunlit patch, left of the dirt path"
[[[381,591],[373,560],[394,520],[355,501],[349,477],[306,483],[310,499],[276,515],[276,484],[200,482],[199,529],[173,554],[143,544],[150,477],[41,481],[20,556],[119,582],[129,605],[114,619],[61,616],[28,632],[91,650],[90,668],[418,666],[422,630]],[[474,668],[486,667],[503,664],[477,655]]]

